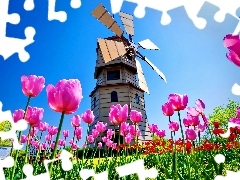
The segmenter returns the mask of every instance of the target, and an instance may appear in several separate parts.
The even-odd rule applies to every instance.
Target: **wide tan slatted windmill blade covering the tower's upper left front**
[[[127,53],[123,42],[107,39],[98,39],[98,44],[105,63],[108,63]]]

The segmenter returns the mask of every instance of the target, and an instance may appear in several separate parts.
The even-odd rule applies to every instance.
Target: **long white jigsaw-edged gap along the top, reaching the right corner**
[[[236,14],[237,9],[240,7],[240,1],[236,0],[125,0],[127,2],[137,4],[134,10],[134,16],[137,18],[143,18],[145,16],[145,8],[151,8],[162,12],[161,24],[168,25],[171,23],[171,17],[168,11],[175,8],[183,6],[186,10],[188,17],[192,20],[194,25],[198,29],[204,29],[206,27],[207,21],[204,18],[198,17],[202,6],[205,2],[209,2],[212,5],[219,7],[219,11],[214,15],[214,19],[217,22],[223,22],[225,20],[226,14],[230,14],[238,19]],[[111,0],[112,13],[116,14],[121,10],[124,0]]]

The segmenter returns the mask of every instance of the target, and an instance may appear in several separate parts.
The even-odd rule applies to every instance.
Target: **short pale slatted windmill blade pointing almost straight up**
[[[134,36],[133,16],[124,12],[119,12],[119,16],[126,30],[126,33]]]

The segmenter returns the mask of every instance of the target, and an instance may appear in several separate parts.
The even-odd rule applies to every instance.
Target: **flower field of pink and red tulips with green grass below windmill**
[[[83,169],[94,169],[96,173],[108,172],[108,179],[140,179],[137,174],[119,177],[116,167],[144,159],[145,169],[156,168],[157,179],[214,179],[217,175],[226,175],[226,170],[239,169],[239,134],[238,126],[230,128],[228,138],[222,138],[226,132],[226,124],[211,122],[204,114],[203,100],[196,100],[196,107],[187,107],[188,96],[170,94],[168,101],[162,105],[162,112],[169,121],[168,130],[160,130],[156,124],[149,125],[153,140],[140,143],[140,131],[137,124],[142,121],[142,114],[131,110],[125,105],[112,105],[109,109],[109,123],[114,129],[107,129],[107,123],[97,122],[95,128],[86,137],[83,147],[78,146],[82,137],[82,123],[88,127],[94,122],[94,114],[87,110],[81,115],[73,115],[71,125],[74,137],[69,137],[69,130],[64,130],[62,123],[64,115],[73,114],[79,107],[82,99],[82,88],[77,79],[60,80],[56,86],[46,87],[49,107],[56,113],[61,113],[59,126],[54,127],[42,121],[44,110],[29,106],[30,100],[36,98],[45,87],[45,79],[41,76],[22,76],[22,91],[28,97],[25,110],[18,109],[13,113],[14,122],[25,119],[29,124],[29,132],[23,135],[17,132],[19,141],[26,145],[26,149],[14,150],[11,156],[15,164],[12,168],[4,169],[6,179],[25,178],[22,168],[24,164],[31,164],[34,175],[46,172],[44,159],[58,157],[62,149],[66,149],[74,156],[73,169],[66,172],[57,161],[49,165],[52,179],[81,179],[79,172]],[[187,112],[186,118],[181,118]],[[171,121],[173,114],[178,114],[178,121]],[[234,114],[227,122],[240,124],[240,109],[235,108]],[[120,127],[120,133],[118,131]],[[175,133],[181,132],[181,138],[176,139]],[[47,132],[45,137],[42,133]],[[166,133],[171,138],[166,138]],[[64,139],[60,139],[60,135]],[[124,141],[114,142],[116,136],[122,136]],[[100,138],[101,141],[96,142]],[[69,145],[67,145],[67,141]],[[89,148],[95,144],[95,148]],[[38,150],[34,159],[29,158],[29,147]],[[223,154],[224,163],[217,163],[215,155]],[[142,178],[144,179],[144,178]],[[147,177],[146,177],[147,179]],[[151,179],[149,177],[148,179]]]

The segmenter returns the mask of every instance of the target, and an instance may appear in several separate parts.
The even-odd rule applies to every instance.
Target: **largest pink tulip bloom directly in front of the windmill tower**
[[[112,105],[110,110],[111,116],[115,118],[118,124],[125,122],[128,118],[128,105],[125,104],[123,107],[120,104]]]

